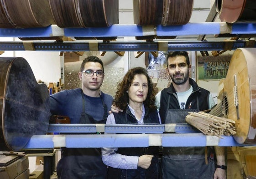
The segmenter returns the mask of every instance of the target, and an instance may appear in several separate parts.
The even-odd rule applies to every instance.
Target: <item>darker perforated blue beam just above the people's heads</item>
[[[225,43],[231,43],[232,49],[246,46],[248,41],[169,41],[167,51],[218,51],[224,50]],[[26,49],[24,43],[31,43],[33,49]],[[90,51],[89,42],[0,42],[0,51]],[[99,51],[159,51],[159,42],[99,42]]]

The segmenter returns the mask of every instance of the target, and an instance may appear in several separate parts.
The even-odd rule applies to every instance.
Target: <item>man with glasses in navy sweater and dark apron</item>
[[[106,123],[113,97],[100,91],[104,80],[103,62],[88,56],[81,64],[82,89],[70,89],[50,96],[52,115],[68,116],[71,123]],[[87,133],[88,134],[88,133]],[[58,179],[105,179],[107,166],[101,148],[61,148]]]

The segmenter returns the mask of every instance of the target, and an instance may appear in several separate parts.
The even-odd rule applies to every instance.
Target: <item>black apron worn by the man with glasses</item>
[[[102,97],[100,96],[104,108],[104,116],[100,121],[85,113],[83,93],[82,97],[83,111],[80,123],[106,123],[108,110]],[[106,179],[107,166],[102,162],[101,148],[62,148],[62,158],[57,164],[57,176],[58,179]]]

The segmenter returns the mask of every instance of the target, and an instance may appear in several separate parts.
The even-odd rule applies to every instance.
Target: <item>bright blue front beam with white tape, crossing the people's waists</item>
[[[104,135],[34,135],[23,149],[35,148],[99,148],[147,146],[253,146],[239,144],[232,136],[207,136],[203,133],[104,134]],[[209,140],[209,138],[212,138]]]

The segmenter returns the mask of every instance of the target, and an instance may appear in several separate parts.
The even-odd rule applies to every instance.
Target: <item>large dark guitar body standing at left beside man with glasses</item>
[[[0,57],[0,150],[18,151],[36,134],[46,134],[50,97],[24,58]]]

